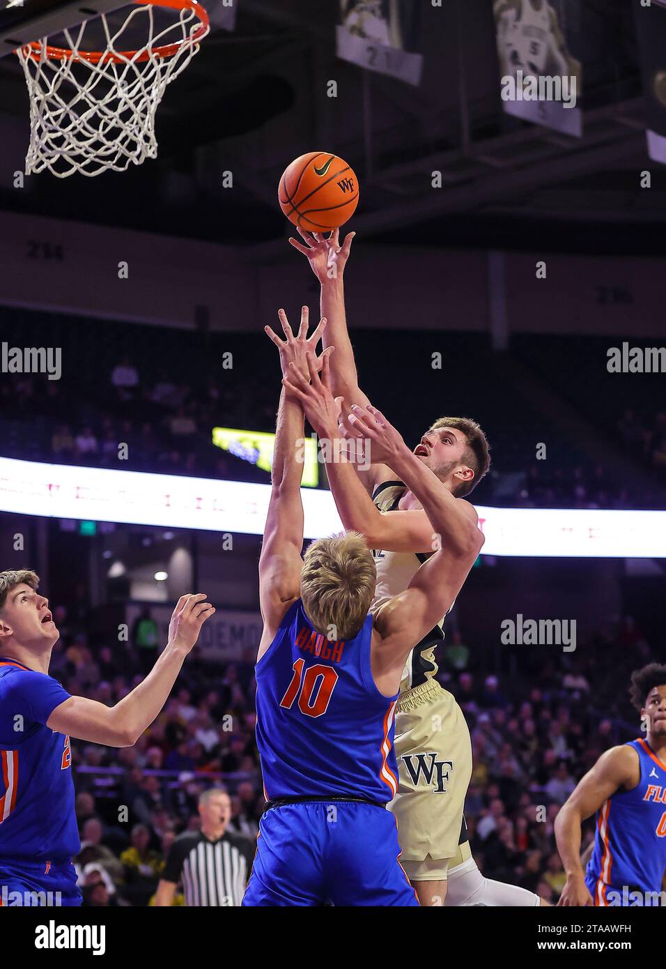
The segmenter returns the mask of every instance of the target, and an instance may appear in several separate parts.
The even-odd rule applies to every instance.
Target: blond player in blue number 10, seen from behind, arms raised
[[[418,905],[385,810],[398,788],[393,715],[409,652],[450,607],[482,537],[455,556],[436,551],[374,615],[377,570],[360,535],[320,539],[301,558],[304,410],[320,437],[334,441],[339,402],[328,389],[333,348],[317,361],[312,353],[324,321],[308,340],[306,308],[297,337],[284,311],[280,319],[286,341],[266,328],[286,379],[259,559],[256,666],[268,804],[243,904]],[[363,418],[364,434],[382,442],[444,543],[453,543],[451,496],[378,411],[368,405]]]

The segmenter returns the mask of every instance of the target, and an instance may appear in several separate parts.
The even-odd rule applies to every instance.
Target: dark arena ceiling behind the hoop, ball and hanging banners
[[[214,19],[221,2],[206,3]],[[647,155],[630,0],[583,2],[598,44],[581,140],[503,114],[490,0],[442,5],[424,37],[418,88],[336,57],[334,0],[237,0],[235,30],[214,26],[166,91],[157,161],[94,179],[41,174],[16,189],[28,99],[15,55],[0,57],[0,207],[254,245],[258,259],[278,259],[279,175],[321,148],[359,175],[353,228],[366,239],[661,252],[666,169]],[[337,98],[326,95],[330,79]],[[644,169],[650,191],[640,187]]]

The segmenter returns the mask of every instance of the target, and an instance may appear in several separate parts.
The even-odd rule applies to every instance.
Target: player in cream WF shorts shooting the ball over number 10
[[[300,234],[306,245],[293,238],[289,242],[308,258],[321,285],[321,313],[328,320],[323,343],[336,347],[331,361],[333,391],[344,397],[344,413],[361,413],[368,398],[358,388],[343,284],[354,234],[348,234],[342,246],[337,230],[329,238]],[[356,430],[343,433],[362,438]],[[373,463],[361,462],[355,473],[343,463],[327,464],[343,524],[364,535],[375,549],[373,610],[407,588],[434,547],[452,556],[469,555],[480,547],[476,513],[462,500],[490,465],[479,425],[467,418],[441,418],[424,434],[414,455],[439,480],[449,516],[446,541],[378,442],[372,444]],[[454,697],[435,679],[434,650],[443,639],[442,616],[409,655],[396,709],[400,786],[390,806],[398,821],[401,860],[422,905],[442,905],[446,899],[446,904],[460,906],[537,906],[538,895],[484,878],[471,857],[463,817],[471,776],[469,728]]]

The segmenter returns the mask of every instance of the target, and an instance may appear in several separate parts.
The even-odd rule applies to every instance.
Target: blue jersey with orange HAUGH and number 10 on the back
[[[364,797],[398,790],[393,748],[398,694],[373,679],[368,616],[358,636],[328,641],[297,600],[257,662],[257,747],[264,792],[279,797]]]

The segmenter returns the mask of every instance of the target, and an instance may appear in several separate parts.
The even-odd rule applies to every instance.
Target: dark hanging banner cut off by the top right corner
[[[655,162],[666,164],[666,0],[650,7],[637,3],[636,35],[646,99],[648,152]]]

